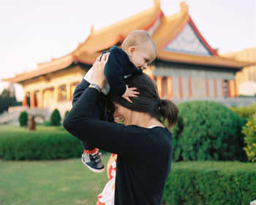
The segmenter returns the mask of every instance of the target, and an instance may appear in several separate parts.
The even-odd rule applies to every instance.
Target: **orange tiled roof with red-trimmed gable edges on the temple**
[[[33,71],[26,71],[23,74],[19,74],[15,77],[4,79],[4,81],[22,82],[24,80],[29,80],[33,77],[39,77],[53,71],[65,69],[74,61],[92,65],[102,50],[108,50],[109,47],[116,45],[118,42],[122,42],[130,31],[135,29],[150,29],[157,20],[160,20],[160,24],[157,27],[157,30],[154,31],[152,38],[158,47],[158,59],[178,63],[233,67],[236,69],[241,69],[246,65],[248,66],[248,63],[245,62],[242,63],[232,59],[219,57],[217,51],[212,49],[207,44],[206,40],[203,39],[200,32],[197,31],[195,24],[192,22],[192,19],[189,16],[188,7],[185,2],[181,2],[180,12],[178,12],[176,15],[166,17],[162,13],[159,0],[154,0],[153,7],[140,12],[137,15],[133,15],[132,17],[121,20],[118,23],[114,23],[106,28],[99,29],[98,31],[94,31],[92,28],[91,34],[86,41],[78,45],[77,49],[72,53],[50,62],[41,63],[38,65],[37,69]],[[206,48],[211,52],[211,56],[174,53],[163,50],[163,47],[165,47],[167,43],[171,42],[179,34],[179,32],[181,32],[182,28],[184,28],[187,23],[192,25],[192,28],[200,38],[200,41],[203,42],[203,45],[205,45]]]

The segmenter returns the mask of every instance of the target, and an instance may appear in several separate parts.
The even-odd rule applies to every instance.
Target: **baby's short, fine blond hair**
[[[155,52],[157,53],[157,45],[152,39],[151,35],[144,30],[134,30],[128,34],[121,45],[122,50],[127,51],[129,47],[141,45],[145,42],[150,41],[154,45]]]

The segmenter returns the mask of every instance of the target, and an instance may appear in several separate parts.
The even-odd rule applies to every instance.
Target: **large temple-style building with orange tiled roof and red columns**
[[[220,57],[189,16],[185,2],[176,15],[165,16],[159,0],[154,6],[106,28],[94,31],[72,53],[37,68],[4,79],[23,86],[23,106],[71,107],[72,93],[97,56],[121,42],[136,29],[148,31],[157,44],[157,59],[148,73],[157,83],[159,95],[173,101],[201,98],[231,98],[237,95],[234,77],[249,63]]]

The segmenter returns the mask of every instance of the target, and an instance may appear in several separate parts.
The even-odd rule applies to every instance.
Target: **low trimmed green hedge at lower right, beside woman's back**
[[[166,205],[249,205],[256,200],[256,163],[173,163],[165,185]]]

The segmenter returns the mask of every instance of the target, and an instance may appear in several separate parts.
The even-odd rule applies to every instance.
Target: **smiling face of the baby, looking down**
[[[154,45],[148,41],[135,47],[134,52],[129,55],[129,61],[143,71],[144,69],[147,69],[149,63],[154,61],[156,55]]]

